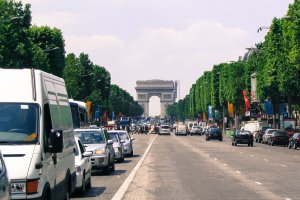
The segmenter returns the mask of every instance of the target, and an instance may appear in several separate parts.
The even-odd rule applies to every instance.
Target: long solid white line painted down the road
[[[146,149],[143,157],[141,158],[141,160],[138,162],[138,164],[134,167],[134,169],[131,171],[131,173],[129,174],[129,176],[126,178],[126,180],[123,182],[123,184],[121,185],[121,187],[118,189],[118,191],[116,192],[116,194],[113,196],[113,198],[111,200],[121,200],[123,198],[123,196],[125,195],[125,192],[128,190],[128,187],[130,185],[130,183],[133,181],[133,178],[135,176],[135,174],[137,173],[137,171],[139,170],[139,168],[141,167],[141,165],[143,164],[144,160],[146,159],[156,137],[158,135],[156,135],[152,142],[150,143],[150,145],[148,146],[148,148]]]

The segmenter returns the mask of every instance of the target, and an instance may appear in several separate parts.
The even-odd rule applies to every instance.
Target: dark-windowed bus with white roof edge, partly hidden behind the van
[[[73,127],[85,128],[89,126],[87,106],[85,102],[69,99],[72,113]]]

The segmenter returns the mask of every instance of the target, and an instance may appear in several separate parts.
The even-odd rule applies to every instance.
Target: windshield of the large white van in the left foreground
[[[33,144],[38,141],[37,104],[0,103],[0,143]]]

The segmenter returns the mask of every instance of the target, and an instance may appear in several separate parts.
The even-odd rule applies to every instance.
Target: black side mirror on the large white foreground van
[[[50,153],[61,153],[63,151],[63,131],[50,131],[50,145],[48,146]]]

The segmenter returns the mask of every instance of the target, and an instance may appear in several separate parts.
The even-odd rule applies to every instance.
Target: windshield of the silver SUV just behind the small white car
[[[102,131],[76,131],[82,144],[104,144],[104,134]]]

